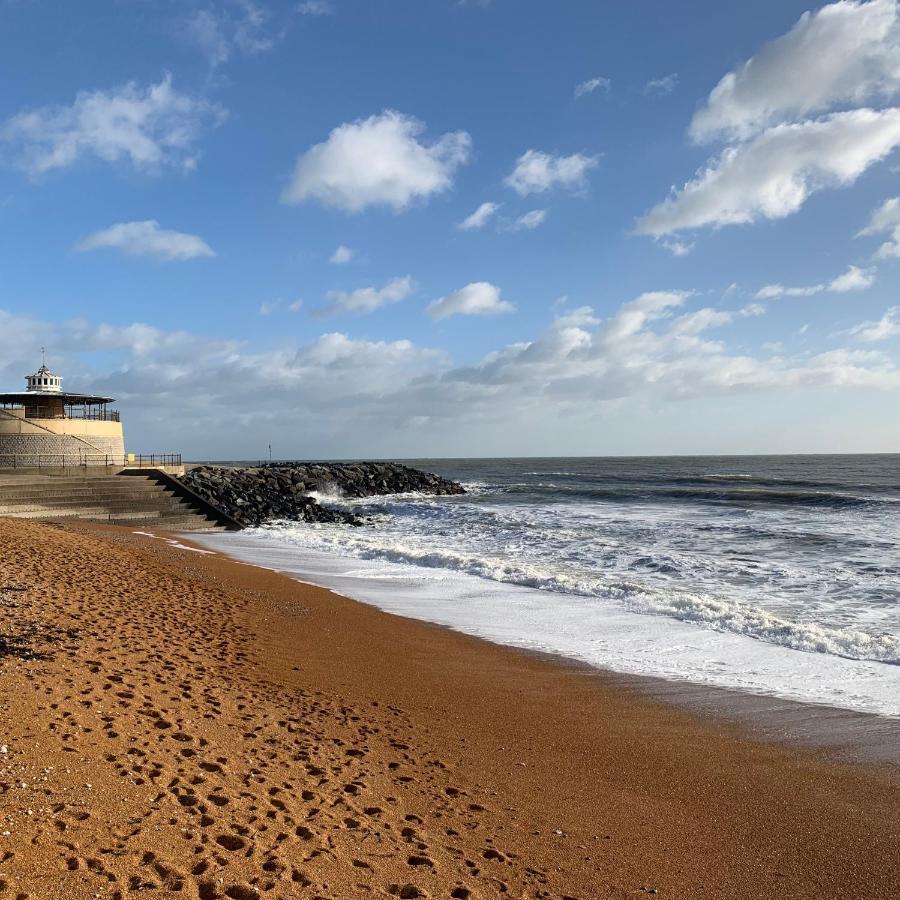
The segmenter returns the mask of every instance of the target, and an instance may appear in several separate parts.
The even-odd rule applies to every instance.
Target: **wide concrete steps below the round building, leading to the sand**
[[[51,476],[0,473],[0,516],[85,519],[168,531],[224,531],[228,524],[152,474]]]

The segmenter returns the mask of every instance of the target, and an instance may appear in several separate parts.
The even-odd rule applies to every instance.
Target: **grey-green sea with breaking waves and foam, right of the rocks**
[[[620,673],[900,717],[900,455],[402,460],[461,496],[203,543]]]

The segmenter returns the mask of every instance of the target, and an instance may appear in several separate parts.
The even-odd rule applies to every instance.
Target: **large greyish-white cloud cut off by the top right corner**
[[[896,0],[832,3],[725,75],[691,122],[695,141],[745,139],[777,122],[900,88]]]

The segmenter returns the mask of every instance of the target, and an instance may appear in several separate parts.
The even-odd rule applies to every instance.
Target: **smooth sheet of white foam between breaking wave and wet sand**
[[[643,615],[597,597],[551,593],[444,567],[323,552],[291,544],[274,530],[192,539],[388,612],[497,643],[618,672],[900,716],[900,666],[802,652],[745,634]]]

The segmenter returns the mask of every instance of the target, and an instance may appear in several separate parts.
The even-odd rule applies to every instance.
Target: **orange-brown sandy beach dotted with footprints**
[[[0,898],[892,898],[900,778],[126,529],[0,520]]]

